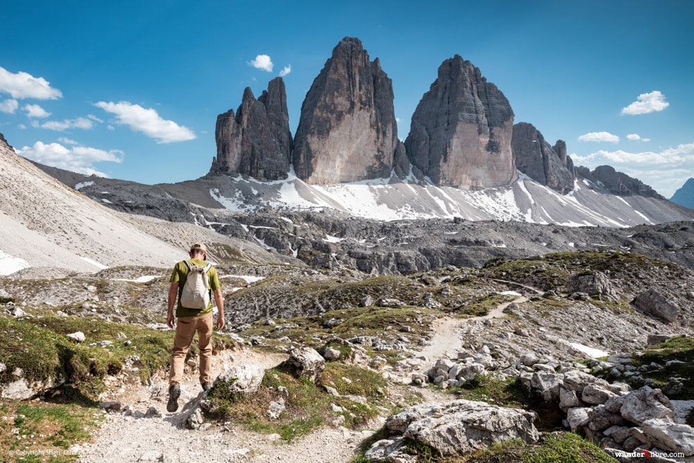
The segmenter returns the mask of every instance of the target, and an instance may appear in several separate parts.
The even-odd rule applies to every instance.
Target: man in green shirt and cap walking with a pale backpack
[[[195,333],[198,333],[200,348],[200,384],[206,391],[212,387],[210,369],[212,362],[212,301],[210,292],[214,293],[217,304],[217,328],[224,327],[224,299],[217,269],[205,262],[207,249],[204,244],[190,246],[189,260],[182,260],[174,266],[169,281],[169,310],[167,325],[176,326],[174,349],[171,353],[169,370],[169,403],[167,410],[178,410],[180,382],[183,379],[183,367],[188,347]],[[204,286],[202,286],[204,284]],[[178,299],[178,304],[176,300]],[[174,305],[176,315],[174,317]],[[178,318],[178,323],[176,323]]]

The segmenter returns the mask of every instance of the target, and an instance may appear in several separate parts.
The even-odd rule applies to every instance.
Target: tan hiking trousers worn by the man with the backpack
[[[183,368],[188,347],[193,336],[198,333],[200,348],[200,384],[211,382],[212,369],[212,312],[197,317],[178,317],[176,320],[176,336],[174,350],[171,352],[171,369],[169,370],[169,385],[180,385],[183,380]]]

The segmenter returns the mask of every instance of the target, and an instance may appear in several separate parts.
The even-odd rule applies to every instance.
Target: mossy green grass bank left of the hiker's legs
[[[85,334],[85,342],[67,338],[77,331]],[[136,359],[139,379],[149,380],[169,364],[174,340],[173,331],[82,317],[0,317],[0,332],[0,352],[7,367],[0,372],[0,383],[15,381],[15,369],[21,369],[29,382],[53,380],[66,400],[85,403],[103,391],[105,376],[122,371],[128,357]],[[212,339],[214,348],[234,344],[223,335]],[[107,345],[90,346],[101,342]]]

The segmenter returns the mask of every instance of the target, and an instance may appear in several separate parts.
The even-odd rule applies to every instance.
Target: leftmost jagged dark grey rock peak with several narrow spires
[[[270,81],[258,99],[246,87],[236,115],[228,110],[217,116],[214,137],[217,157],[212,160],[212,172],[258,180],[287,178],[293,142],[282,78]]]

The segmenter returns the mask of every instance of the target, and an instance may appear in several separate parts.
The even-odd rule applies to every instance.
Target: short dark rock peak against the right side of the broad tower
[[[566,155],[566,142],[559,140],[550,146],[532,124],[519,122],[514,126],[511,148],[523,174],[561,194],[573,190],[576,174]]]

